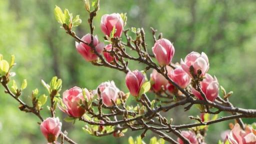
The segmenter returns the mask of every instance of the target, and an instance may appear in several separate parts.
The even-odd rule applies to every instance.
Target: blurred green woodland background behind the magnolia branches
[[[0,53],[5,59],[14,54],[17,63],[13,69],[15,79],[26,78],[28,81],[22,99],[29,103],[28,95],[36,87],[40,93],[46,92],[40,79],[50,81],[54,75],[62,78],[63,90],[74,85],[94,89],[101,81],[113,79],[120,89],[127,91],[124,73],[92,66],[76,52],[74,39],[59,28],[54,18],[55,4],[80,14],[82,24],[74,29],[79,36],[89,32],[88,13],[82,0],[0,0]],[[150,52],[153,42],[149,27],[163,32],[163,37],[174,44],[173,62],[179,62],[191,51],[204,51],[210,61],[209,73],[216,75],[227,91],[234,92],[230,101],[242,108],[256,108],[255,0],[101,0],[94,21],[95,33],[101,41],[100,17],[113,12],[127,12],[126,28],[144,27]],[[141,69],[143,65],[134,63],[130,66],[131,69]],[[129,102],[135,104],[131,97]],[[19,111],[18,103],[4,94],[2,87],[0,105],[0,143],[46,143],[36,124],[38,118]],[[180,106],[165,115],[180,124],[193,122],[187,115],[198,114],[194,107],[189,112],[182,110]],[[59,110],[57,113],[59,117],[66,116]],[[48,115],[44,108],[43,116]],[[255,119],[244,121],[252,123]],[[216,143],[220,132],[228,128],[228,122],[233,121],[211,125],[206,141]],[[62,129],[66,129],[78,143],[127,143],[129,135],[135,137],[141,133],[129,131],[121,138],[112,135],[94,137],[82,131],[82,122],[75,125],[63,123]],[[153,134],[148,132],[145,141],[151,136]]]

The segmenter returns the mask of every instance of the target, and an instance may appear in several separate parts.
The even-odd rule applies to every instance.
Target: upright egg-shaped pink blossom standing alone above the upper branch
[[[153,54],[160,65],[168,65],[174,55],[174,46],[165,38],[155,41],[152,47]]]

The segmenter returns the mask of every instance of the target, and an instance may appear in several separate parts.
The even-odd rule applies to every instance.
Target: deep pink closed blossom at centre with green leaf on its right
[[[133,96],[139,96],[139,90],[144,82],[145,76],[138,70],[129,71],[126,74],[125,83],[130,91],[130,94]]]

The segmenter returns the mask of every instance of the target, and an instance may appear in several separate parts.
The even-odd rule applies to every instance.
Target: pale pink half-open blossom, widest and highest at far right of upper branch
[[[197,74],[197,70],[201,69],[200,76],[203,76],[209,69],[209,61],[207,55],[202,52],[199,54],[198,52],[191,52],[186,55],[185,60],[181,59],[180,61],[181,67],[183,70],[192,78],[192,75],[189,71],[190,66],[194,68],[194,74]]]

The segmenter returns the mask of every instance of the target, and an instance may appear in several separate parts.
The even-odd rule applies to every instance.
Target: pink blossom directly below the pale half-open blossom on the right
[[[213,78],[210,74],[206,73],[205,78],[202,81],[200,81],[200,85],[201,85],[202,92],[205,94],[206,98],[210,101],[214,101],[215,98],[218,96],[218,89],[219,89],[217,78],[215,76]],[[192,93],[197,98],[203,100],[203,97],[201,96],[200,92],[195,90],[193,87],[192,87]]]

